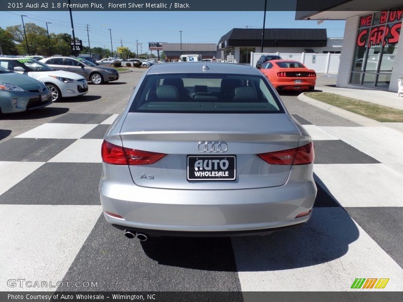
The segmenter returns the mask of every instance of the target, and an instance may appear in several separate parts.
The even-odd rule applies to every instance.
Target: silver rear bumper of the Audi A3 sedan
[[[99,192],[105,219],[120,229],[148,234],[206,236],[277,231],[306,222],[316,186],[312,164],[294,166],[288,182],[279,187],[236,190],[172,190],[140,187],[131,181],[126,166],[105,172]],[[107,168],[107,167],[106,167]],[[117,168],[117,169],[116,169]],[[110,172],[110,174],[108,174]],[[127,176],[116,183],[115,173]],[[111,180],[108,177],[111,177]],[[301,175],[306,179],[301,180]],[[121,179],[119,177],[119,179]],[[118,214],[113,217],[105,211]]]

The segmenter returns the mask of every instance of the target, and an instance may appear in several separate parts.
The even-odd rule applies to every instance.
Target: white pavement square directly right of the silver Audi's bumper
[[[403,175],[384,164],[314,165],[313,172],[343,207],[403,206]]]

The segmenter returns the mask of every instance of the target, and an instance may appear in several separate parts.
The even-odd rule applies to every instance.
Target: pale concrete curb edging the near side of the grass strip
[[[373,120],[371,118],[368,118],[368,117],[359,115],[357,113],[353,113],[353,112],[344,110],[342,108],[335,107],[335,106],[329,105],[327,103],[323,103],[321,101],[312,99],[312,98],[306,96],[305,93],[300,94],[297,97],[297,99],[302,101],[302,102],[304,102],[304,103],[307,103],[309,105],[315,106],[316,108],[319,108],[319,109],[322,109],[324,111],[327,111],[327,112],[333,113],[335,115],[341,116],[341,117],[343,117],[345,119],[348,119],[348,120],[350,120],[350,121],[352,121],[354,123],[357,123],[357,124],[359,124],[361,126],[387,127],[387,125],[384,125],[383,123],[378,122],[376,120]]]

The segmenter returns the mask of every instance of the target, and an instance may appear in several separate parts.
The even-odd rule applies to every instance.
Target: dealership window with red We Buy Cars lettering
[[[403,7],[360,17],[350,83],[389,88]]]

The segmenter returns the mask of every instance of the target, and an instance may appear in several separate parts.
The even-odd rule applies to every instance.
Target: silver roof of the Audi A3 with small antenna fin
[[[203,69],[203,66],[208,69]],[[174,62],[156,64],[148,69],[148,74],[157,73],[224,73],[224,74],[250,74],[261,75],[260,71],[250,65],[219,62]]]

